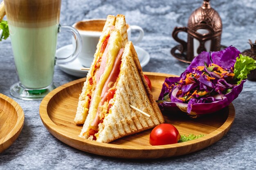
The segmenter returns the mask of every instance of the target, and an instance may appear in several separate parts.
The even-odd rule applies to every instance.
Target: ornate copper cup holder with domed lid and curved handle
[[[202,51],[219,51],[222,33],[222,21],[217,11],[211,8],[210,0],[204,0],[202,7],[196,9],[189,17],[187,27],[175,27],[173,38],[179,42],[185,59],[192,61]],[[178,38],[178,33],[188,33],[187,42]],[[173,53],[172,53],[173,54]]]

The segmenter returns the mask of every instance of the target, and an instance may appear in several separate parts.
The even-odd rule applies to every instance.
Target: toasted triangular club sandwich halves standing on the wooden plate
[[[122,26],[117,26],[118,17],[120,15],[117,15],[115,27],[108,20],[105,24],[110,29],[106,38],[99,40],[102,43],[97,46],[74,120],[82,124],[82,118],[85,119],[80,137],[104,143],[164,123],[144,78],[135,48],[127,40],[124,16],[121,15]],[[98,56],[97,52],[102,55]]]

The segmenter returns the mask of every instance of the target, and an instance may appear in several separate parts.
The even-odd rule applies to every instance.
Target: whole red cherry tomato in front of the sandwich
[[[176,144],[180,139],[179,131],[171,124],[159,124],[150,133],[150,145]]]

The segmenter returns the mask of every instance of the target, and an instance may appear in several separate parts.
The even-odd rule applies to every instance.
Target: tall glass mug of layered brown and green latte
[[[41,100],[57,84],[54,65],[76,59],[81,52],[81,37],[71,26],[59,24],[61,0],[4,0],[18,83],[11,95],[25,100]],[[65,58],[57,58],[59,32],[71,32],[76,48]]]

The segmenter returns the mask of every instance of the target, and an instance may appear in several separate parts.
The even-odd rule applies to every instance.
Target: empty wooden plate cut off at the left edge
[[[0,94],[0,153],[17,139],[23,124],[24,113],[20,105]]]

